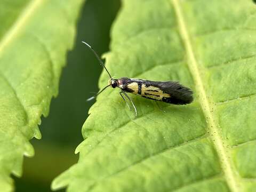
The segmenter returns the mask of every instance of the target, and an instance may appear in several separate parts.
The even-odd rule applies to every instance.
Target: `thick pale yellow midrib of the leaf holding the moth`
[[[210,100],[207,99],[206,91],[203,86],[203,81],[202,81],[201,75],[199,74],[198,64],[195,59],[192,44],[188,35],[186,22],[185,22],[185,19],[183,18],[183,13],[181,11],[181,7],[178,1],[179,0],[172,0],[172,4],[177,17],[177,23],[179,26],[180,35],[184,43],[185,50],[187,52],[188,68],[195,81],[195,87],[196,87],[195,89],[197,90],[199,102],[202,106],[202,110],[205,115],[205,118],[208,121],[207,123],[209,126],[208,129],[211,133],[210,137],[215,146],[215,149],[217,150],[217,153],[220,159],[220,165],[224,172],[224,177],[226,178],[226,181],[228,183],[230,190],[236,192],[236,191],[239,191],[237,186],[238,182],[236,182],[235,173],[231,167],[231,163],[228,160],[228,157],[229,157],[228,151],[225,150],[225,146],[222,144],[224,141],[221,139],[220,133],[218,130],[218,125],[217,123],[215,123],[217,122],[217,119],[214,118],[211,112],[211,109],[212,111],[215,111],[215,110],[213,105],[210,104]]]

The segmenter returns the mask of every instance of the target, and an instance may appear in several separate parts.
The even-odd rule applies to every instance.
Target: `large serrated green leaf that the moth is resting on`
[[[79,161],[52,183],[68,191],[256,190],[256,6],[252,1],[123,0],[106,66],[116,78],[178,80],[187,106],[117,89],[97,98]],[[99,87],[107,85],[103,71]]]

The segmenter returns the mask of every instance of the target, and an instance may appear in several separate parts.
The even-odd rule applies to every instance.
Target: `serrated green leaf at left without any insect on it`
[[[66,53],[73,46],[83,0],[1,1],[0,3],[0,191],[13,190],[29,143],[40,139]]]

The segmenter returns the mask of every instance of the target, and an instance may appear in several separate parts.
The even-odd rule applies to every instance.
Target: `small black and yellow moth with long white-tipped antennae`
[[[132,106],[135,111],[135,116],[137,116],[137,109],[132,101],[132,99],[126,93],[133,93],[139,95],[143,98],[152,99],[155,101],[162,101],[166,103],[171,103],[174,105],[186,105],[193,101],[193,91],[186,86],[181,85],[177,81],[149,81],[145,79],[134,79],[122,77],[119,79],[114,79],[104,63],[100,59],[99,55],[94,51],[94,49],[87,43],[82,42],[87,45],[92,52],[95,54],[97,59],[103,68],[107,71],[110,79],[109,84],[104,87],[98,94],[93,97],[87,99],[87,101],[94,99],[99,95],[102,91],[104,91],[107,87],[112,86],[113,88],[118,87],[121,89],[120,95],[126,102],[126,105],[129,107],[125,97],[132,103]]]

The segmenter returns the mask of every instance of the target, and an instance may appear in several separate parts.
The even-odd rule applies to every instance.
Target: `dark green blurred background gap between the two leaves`
[[[102,71],[81,41],[91,44],[100,55],[109,51],[109,31],[119,6],[119,0],[87,0],[84,4],[74,49],[68,52],[62,71],[59,95],[51,102],[49,116],[42,117],[42,139],[31,140],[35,156],[25,157],[22,178],[14,178],[15,191],[51,191],[51,181],[78,161],[74,151],[83,140],[82,125],[93,104],[86,99],[98,91]]]

